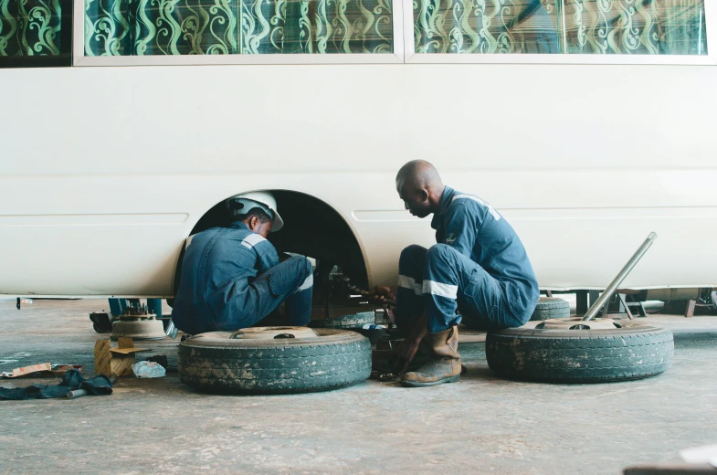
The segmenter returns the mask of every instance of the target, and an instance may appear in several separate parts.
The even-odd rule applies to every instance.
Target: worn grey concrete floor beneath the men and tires
[[[0,371],[43,362],[92,373],[106,301],[0,301]],[[651,317],[675,331],[672,368],[604,385],[491,375],[483,343],[461,348],[458,384],[368,381],[295,396],[207,396],[121,378],[111,396],[0,402],[0,473],[611,473],[717,442],[717,318]],[[145,343],[176,363],[177,341]],[[146,355],[146,354],[145,354]],[[53,378],[0,385],[53,384]]]

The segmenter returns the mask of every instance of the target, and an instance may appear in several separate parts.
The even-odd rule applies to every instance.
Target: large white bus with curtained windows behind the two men
[[[421,158],[545,290],[717,286],[713,0],[0,0],[0,293],[171,297],[276,192],[279,250],[393,283]],[[39,67],[39,68],[36,68]],[[219,206],[219,207],[217,207]]]

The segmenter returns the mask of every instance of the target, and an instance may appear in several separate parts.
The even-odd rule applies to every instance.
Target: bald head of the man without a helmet
[[[440,208],[445,186],[433,164],[412,160],[395,175],[395,189],[412,215],[426,217]]]

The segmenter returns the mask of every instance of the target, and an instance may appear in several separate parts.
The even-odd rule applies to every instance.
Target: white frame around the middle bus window
[[[283,64],[399,64],[404,62],[404,15],[402,0],[394,0],[392,23],[393,53],[365,54],[264,54],[264,55],[146,55],[85,56],[85,0],[74,2],[73,66],[207,66]],[[408,3],[410,5],[410,2]]]

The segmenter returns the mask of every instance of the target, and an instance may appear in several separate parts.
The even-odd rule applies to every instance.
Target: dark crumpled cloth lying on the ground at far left
[[[0,401],[51,399],[65,397],[70,391],[84,389],[90,395],[104,396],[112,392],[112,383],[106,375],[85,379],[76,369],[69,370],[59,385],[31,385],[27,387],[0,387]]]

